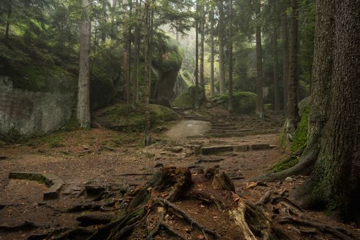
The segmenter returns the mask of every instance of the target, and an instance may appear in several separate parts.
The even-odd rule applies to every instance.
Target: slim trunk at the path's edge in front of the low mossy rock
[[[144,78],[145,78],[145,137],[144,145],[151,144],[150,136],[150,82],[151,82],[151,67],[150,67],[150,11],[149,11],[149,0],[145,1],[145,21],[144,21],[144,47],[145,47],[145,66],[144,66]]]

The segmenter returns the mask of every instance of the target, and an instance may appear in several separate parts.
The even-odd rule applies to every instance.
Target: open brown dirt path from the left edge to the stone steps
[[[256,202],[269,189],[291,190],[304,178],[274,182],[266,186],[249,187],[248,180],[261,174],[269,165],[286,156],[276,147],[278,134],[256,134],[173,141],[164,132],[153,135],[156,141],[149,147],[141,145],[142,134],[119,133],[106,129],[58,132],[33,139],[23,145],[0,148],[0,226],[15,226],[23,221],[51,228],[77,226],[79,213],[62,213],[76,204],[88,202],[86,185],[118,189],[122,185],[139,186],[160,167],[173,165],[203,171],[219,165],[235,183],[238,194]],[[216,155],[193,154],[195,146],[269,145],[266,149],[221,152]],[[43,201],[44,184],[29,180],[9,180],[12,171],[52,173],[65,184],[58,200]],[[128,176],[128,174],[133,176]],[[127,176],[123,176],[123,174]],[[144,174],[144,175],[141,175]],[[3,207],[1,207],[3,206]],[[324,215],[311,213],[318,219],[332,221]],[[345,226],[348,228],[348,226]],[[0,230],[0,239],[27,239],[39,230]]]

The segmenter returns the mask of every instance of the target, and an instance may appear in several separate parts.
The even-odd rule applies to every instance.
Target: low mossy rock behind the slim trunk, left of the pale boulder
[[[181,119],[175,111],[161,105],[150,104],[151,125],[163,121],[174,121]],[[95,122],[117,131],[142,132],[145,125],[145,106],[132,108],[131,104],[115,104],[99,111]]]

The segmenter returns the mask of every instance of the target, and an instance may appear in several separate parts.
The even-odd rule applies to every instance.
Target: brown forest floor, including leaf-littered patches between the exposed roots
[[[232,122],[239,122],[242,128],[260,128],[259,122],[252,116],[236,116]],[[271,126],[265,122],[263,128],[279,130],[280,122],[275,121],[275,124],[272,121]],[[306,179],[305,176],[293,176],[265,184],[251,181],[251,178],[264,173],[269,165],[289,154],[289,150],[277,147],[278,132],[176,141],[167,139],[165,131],[161,131],[171,128],[173,124],[175,123],[166,123],[158,133],[154,132],[154,144],[147,147],[142,145],[141,133],[115,132],[104,128],[60,131],[30,139],[27,143],[0,147],[0,239],[28,239],[30,236],[30,239],[44,239],[47,235],[43,234],[50,230],[63,232],[77,227],[79,215],[89,212],[110,213],[113,208],[106,206],[93,211],[88,208],[83,211],[67,210],[73,206],[94,204],[94,196],[86,194],[85,187],[104,187],[107,191],[121,189],[124,186],[141,187],[161,167],[189,167],[194,181],[198,181],[195,184],[196,190],[211,191],[206,182],[197,178],[204,173],[204,169],[219,165],[220,171],[232,178],[237,195],[251,203],[258,202],[269,190],[279,194],[291,191]],[[213,155],[197,155],[193,151],[194,145],[229,144],[268,147],[219,152]],[[31,180],[9,179],[10,172],[56,175],[64,181],[60,197],[45,201],[45,184]],[[230,193],[224,193],[224,196],[228,197],[229,202],[237,201],[237,197],[228,194]],[[116,197],[112,200],[116,202],[114,198]],[[219,239],[243,239],[243,235],[232,224],[226,211],[217,211],[213,206],[200,204],[195,200],[184,200],[180,206],[207,228],[218,232],[221,236]],[[272,206],[269,211],[274,209]],[[306,211],[302,214],[306,215],[307,219],[344,228],[350,232],[350,239],[360,239],[359,228],[351,224],[341,224],[326,213]],[[26,222],[31,223],[28,228],[24,225]],[[86,229],[96,230],[99,226],[101,224],[95,224]],[[173,226],[182,232],[184,239],[204,239],[202,232],[189,230],[184,224]],[[281,224],[281,228],[291,239],[337,239],[324,232],[302,230],[287,224]],[[137,239],[144,239],[141,236],[139,233]],[[157,236],[155,239],[169,239],[164,236]]]

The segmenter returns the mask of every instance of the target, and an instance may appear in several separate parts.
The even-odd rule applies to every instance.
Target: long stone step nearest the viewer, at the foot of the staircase
[[[271,149],[274,146],[269,145],[267,143],[259,143],[252,145],[219,145],[219,146],[210,146],[210,147],[202,147],[201,154],[202,155],[216,155],[221,152],[247,152],[249,150],[264,150]]]

